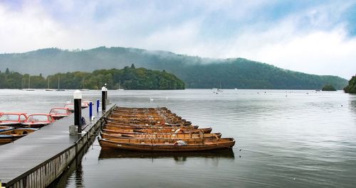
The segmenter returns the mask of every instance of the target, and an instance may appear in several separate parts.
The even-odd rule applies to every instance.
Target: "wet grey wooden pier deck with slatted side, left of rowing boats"
[[[74,124],[74,114],[70,114],[14,143],[0,145],[2,186],[47,187],[73,162],[83,145],[96,136],[102,117],[113,106],[107,106],[105,113],[94,111],[93,121],[89,118],[89,108],[83,109],[82,116],[89,123],[82,135],[69,135],[69,126]]]

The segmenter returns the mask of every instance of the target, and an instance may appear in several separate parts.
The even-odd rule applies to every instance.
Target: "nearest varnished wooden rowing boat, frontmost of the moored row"
[[[211,139],[192,139],[184,140],[186,145],[177,145],[177,140],[171,139],[110,139],[98,138],[103,149],[122,149],[140,151],[164,151],[182,152],[198,150],[216,150],[222,148],[232,148],[235,145],[234,138]]]

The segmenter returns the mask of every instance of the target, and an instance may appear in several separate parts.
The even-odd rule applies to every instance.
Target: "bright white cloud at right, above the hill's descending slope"
[[[345,38],[342,29],[315,31],[290,38],[287,42],[269,43],[241,56],[267,62],[288,70],[311,74],[330,74],[350,79],[356,70],[356,40]]]

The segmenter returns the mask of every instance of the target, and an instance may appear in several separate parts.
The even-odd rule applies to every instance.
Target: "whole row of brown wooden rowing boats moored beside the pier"
[[[167,108],[115,107],[98,138],[103,149],[185,152],[232,148],[234,138],[221,138],[212,128],[199,128]]]

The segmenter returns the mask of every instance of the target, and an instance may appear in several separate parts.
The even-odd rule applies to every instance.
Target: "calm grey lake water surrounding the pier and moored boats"
[[[83,92],[83,98],[95,101],[100,94]],[[356,95],[240,89],[108,94],[118,106],[166,106],[194,125],[235,138],[236,145],[219,153],[110,153],[95,141],[53,187],[356,186]],[[1,89],[0,111],[46,113],[72,96],[73,90]]]

